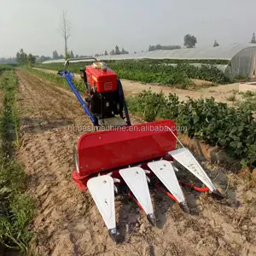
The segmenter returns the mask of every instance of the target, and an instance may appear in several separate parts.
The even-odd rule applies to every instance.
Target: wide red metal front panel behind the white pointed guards
[[[123,126],[111,131],[86,133],[79,138],[79,170],[73,180],[79,189],[86,189],[91,176],[112,172],[124,166],[165,157],[176,149],[176,125],[172,120]]]

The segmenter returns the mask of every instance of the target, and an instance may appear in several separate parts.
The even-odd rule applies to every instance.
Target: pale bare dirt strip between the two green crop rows
[[[56,71],[49,70],[49,69],[42,69],[42,68],[35,68],[40,71],[43,71],[45,73],[54,73],[56,74]],[[80,79],[79,74],[74,74],[75,79]],[[129,80],[121,79],[125,95],[135,95],[139,93],[142,90],[148,90],[151,88],[152,91],[156,93],[160,93],[162,91],[166,96],[169,95],[169,93],[176,93],[179,97],[180,101],[186,101],[187,96],[190,96],[194,99],[200,99],[202,98],[210,98],[213,96],[216,101],[218,102],[226,102],[229,105],[232,105],[232,102],[229,102],[227,100],[227,97],[233,94],[234,91],[239,91],[239,84],[225,84],[225,85],[218,85],[218,86],[212,86],[208,88],[201,88],[203,84],[212,84],[207,81],[201,81],[201,80],[194,80],[195,84],[197,84],[197,90],[183,90],[183,89],[177,89],[165,86],[158,86],[158,85],[148,85],[148,84],[141,84],[137,82],[131,82]],[[236,95],[237,100],[241,99],[241,96]]]

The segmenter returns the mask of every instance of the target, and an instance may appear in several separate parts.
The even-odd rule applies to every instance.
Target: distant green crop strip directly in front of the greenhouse
[[[79,73],[79,67],[89,65],[90,62],[70,63],[70,70]],[[172,64],[166,61],[107,61],[108,67],[116,72],[120,79],[130,79],[144,83],[158,83],[165,85],[192,83],[190,79],[203,79],[216,84],[230,82],[217,67],[212,64],[195,67],[189,63]],[[41,64],[38,67],[53,70],[63,69],[63,63]]]

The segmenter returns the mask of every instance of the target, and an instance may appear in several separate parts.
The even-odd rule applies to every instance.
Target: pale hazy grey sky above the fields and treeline
[[[119,45],[130,53],[149,44],[200,46],[248,43],[256,32],[255,0],[0,0],[0,57],[19,49],[32,55],[64,55],[61,15],[71,26],[68,49],[95,55]]]

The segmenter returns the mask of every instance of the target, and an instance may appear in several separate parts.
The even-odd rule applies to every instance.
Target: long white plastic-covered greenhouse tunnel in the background
[[[256,44],[231,44],[228,46],[154,50],[129,55],[103,55],[98,60],[173,60],[188,61],[191,65],[200,66],[212,63],[220,69],[226,77],[256,76]],[[45,61],[44,63],[61,62],[64,60]]]

